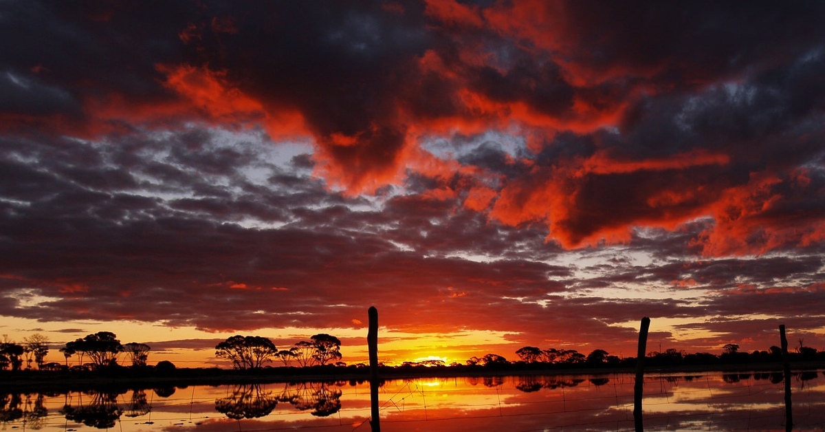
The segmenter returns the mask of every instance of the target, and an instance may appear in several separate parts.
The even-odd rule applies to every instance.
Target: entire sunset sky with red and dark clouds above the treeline
[[[823,2],[0,0],[0,334],[825,349]]]

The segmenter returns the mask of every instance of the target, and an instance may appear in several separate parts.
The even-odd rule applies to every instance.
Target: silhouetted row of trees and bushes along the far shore
[[[262,336],[234,335],[215,345],[215,356],[229,360],[236,369],[263,368],[267,363],[280,361],[285,367],[298,366],[346,366],[341,362],[341,340],[335,336],[321,333],[313,335],[309,340],[301,340],[287,349],[278,349],[271,339]],[[60,348],[64,355],[65,364],[45,363],[49,353],[49,339],[40,334],[34,334],[16,344],[3,335],[0,342],[0,370],[10,369],[18,371],[26,364],[27,369],[36,365],[38,369],[69,369],[69,359],[76,358],[72,369],[93,369],[118,364],[118,358],[125,354],[125,359],[134,368],[146,367],[148,344],[130,342],[121,344],[114,333],[101,331],[70,341]],[[620,358],[610,355],[604,349],[594,349],[590,354],[579,353],[576,349],[540,349],[535,346],[524,346],[516,350],[518,360],[510,361],[502,355],[485,354],[482,357],[471,357],[464,363],[451,363],[450,366],[487,366],[502,367],[508,364],[528,365],[586,365],[586,366],[628,366],[635,362],[635,358]],[[651,365],[678,365],[678,364],[715,364],[715,363],[760,363],[780,360],[781,349],[771,346],[767,350],[756,350],[752,353],[739,351],[738,344],[725,344],[722,353],[695,353],[686,354],[683,350],[666,349],[663,352],[649,352],[646,356]],[[825,361],[825,351],[807,347],[804,340],[799,339],[798,346],[790,353],[792,360]],[[87,363],[85,363],[87,362]],[[163,367],[174,368],[169,362]],[[361,365],[361,364],[359,364]],[[158,363],[158,366],[161,366]],[[443,367],[446,363],[441,360],[425,360],[422,362],[404,362],[402,367]]]

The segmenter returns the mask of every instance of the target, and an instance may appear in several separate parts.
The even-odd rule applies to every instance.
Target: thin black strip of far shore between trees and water
[[[151,369],[130,371],[65,373],[50,371],[3,371],[2,392],[85,391],[106,387],[161,388],[192,385],[266,384],[276,382],[369,382],[368,368],[262,368],[234,370],[219,368],[180,368],[159,374]],[[825,370],[825,362],[791,363],[794,372]],[[695,373],[780,373],[781,363],[731,363],[707,365],[669,365],[645,368],[645,375]],[[635,368],[381,368],[380,381],[444,377],[502,376],[605,376],[634,373]]]

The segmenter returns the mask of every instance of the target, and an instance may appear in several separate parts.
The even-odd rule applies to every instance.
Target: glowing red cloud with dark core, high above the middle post
[[[683,169],[726,164],[722,154],[691,151],[670,158],[623,160],[596,152],[557,167],[536,167],[502,188],[490,216],[507,225],[549,227],[548,240],[564,248],[630,240],[634,226],[673,229],[703,214],[712,191],[693,181],[676,184]],[[650,173],[665,180],[638,182]],[[676,184],[676,185],[675,185]],[[674,186],[675,185],[675,186]]]

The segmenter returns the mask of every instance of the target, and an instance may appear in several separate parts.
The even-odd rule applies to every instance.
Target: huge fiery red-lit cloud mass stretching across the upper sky
[[[728,61],[738,54],[736,49],[761,70],[780,61],[775,53],[784,52],[771,44],[787,40],[763,40],[764,32],[754,32],[743,36],[741,47],[711,46],[697,53],[684,35],[728,30],[714,21],[720,12],[714,7],[674,13],[661,6],[650,10],[662,12],[662,19],[649,20],[632,5],[594,10],[581,2],[528,0],[479,7],[431,0],[422,6],[415,19],[404,17],[413,12],[406,7],[401,9],[410,14],[398,14],[398,5],[359,10],[375,17],[376,27],[366,32],[339,17],[347,14],[330,13],[325,16],[329,21],[313,22],[323,31],[302,33],[288,44],[283,43],[291,37],[283,30],[287,27],[257,21],[257,15],[285,20],[291,18],[287,12],[299,13],[299,8],[279,14],[273,6],[257,15],[214,14],[204,8],[200,21],[185,17],[166,23],[169,31],[163,34],[172,35],[175,50],[181,50],[177,55],[151,59],[149,68],[140,64],[141,85],[156,86],[150,96],[134,97],[139,94],[134,88],[130,92],[125,84],[117,88],[92,78],[52,83],[47,78],[58,69],[38,59],[36,66],[21,70],[43,75],[44,94],[69,88],[69,96],[82,106],[75,116],[83,121],[74,121],[65,108],[40,116],[2,112],[0,127],[45,127],[89,137],[128,133],[136,125],[176,128],[191,121],[262,126],[274,140],[312,137],[315,173],[347,195],[402,184],[415,173],[434,180],[425,197],[461,200],[464,208],[488,211],[506,225],[546,225],[548,240],[565,248],[623,242],[634,227],[672,230],[705,216],[714,225],[694,244],[704,254],[761,253],[825,239],[821,216],[794,211],[790,207],[804,198],[787,197],[803,190],[820,193],[804,184],[809,178],[785,178],[781,172],[787,168],[773,173],[760,167],[756,170],[764,171],[742,184],[732,179],[738,173],[725,171],[741,156],[724,145],[688,150],[690,143],[677,143],[663,155],[645,158],[639,154],[656,149],[625,156],[596,143],[592,150],[560,153],[552,161],[526,157],[520,173],[514,169],[507,175],[441,160],[420,146],[432,136],[495,130],[524,136],[528,149],[540,154],[554,146],[559,132],[598,135],[605,127],[620,128],[627,145],[635,145],[643,138],[629,136],[634,122],[629,107],[660,95],[681,97],[711,78],[714,83],[742,83],[748,69],[731,69]],[[743,20],[747,13],[728,18]],[[67,17],[72,19],[78,18]],[[777,22],[785,23],[758,24]],[[409,32],[395,33],[399,28]],[[646,31],[656,31],[656,37]],[[347,37],[332,37],[339,33]],[[331,40],[338,45],[330,45]],[[765,45],[771,53],[762,59],[747,50],[751,45]],[[683,133],[718,126],[705,123]]]

